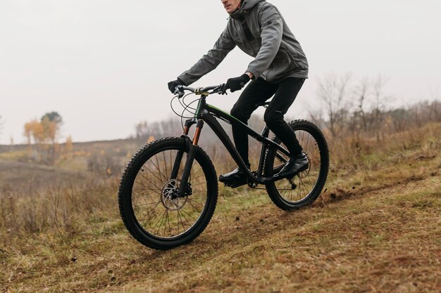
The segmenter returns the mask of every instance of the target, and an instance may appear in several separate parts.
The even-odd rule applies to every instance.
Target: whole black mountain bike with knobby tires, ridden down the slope
[[[191,107],[192,103],[185,104],[185,108],[193,109],[194,117],[185,121],[182,136],[159,138],[144,145],[125,167],[118,192],[120,215],[130,234],[142,245],[154,249],[185,245],[198,237],[211,220],[218,199],[218,177],[209,155],[198,145],[204,124],[213,130],[246,174],[249,188],[263,185],[280,209],[305,207],[320,195],[329,167],[328,145],[322,131],[306,120],[289,123],[308,156],[309,168],[291,178],[278,178],[275,174],[290,158],[287,148],[277,137],[268,138],[268,126],[258,134],[206,103],[207,97],[220,94],[222,88],[222,84],[198,89],[178,86],[178,100],[187,92],[200,96],[193,101],[197,102],[196,108]],[[247,168],[217,119],[241,127],[261,143],[256,170]],[[196,129],[190,138],[193,125]]]

